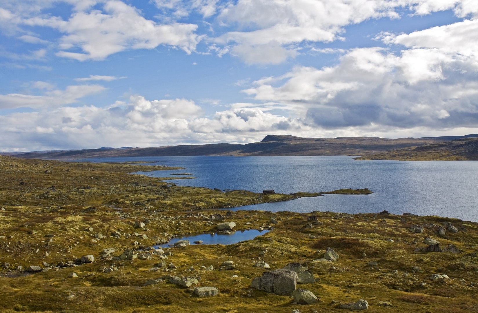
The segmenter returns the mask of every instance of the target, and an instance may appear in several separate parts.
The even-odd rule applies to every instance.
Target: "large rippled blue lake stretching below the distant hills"
[[[141,172],[154,177],[192,173],[195,179],[170,180],[177,185],[277,193],[369,188],[374,194],[300,198],[238,209],[267,211],[333,211],[342,213],[437,215],[478,221],[476,161],[357,161],[351,156],[174,156],[95,158],[89,162],[158,162],[181,166],[175,171]],[[149,163],[155,164],[155,163]],[[166,180],[167,181],[167,180]]]

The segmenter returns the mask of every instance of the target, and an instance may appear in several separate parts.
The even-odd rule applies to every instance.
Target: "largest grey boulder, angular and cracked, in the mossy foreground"
[[[287,295],[295,290],[297,279],[297,273],[293,270],[272,270],[254,278],[250,286],[261,291]]]

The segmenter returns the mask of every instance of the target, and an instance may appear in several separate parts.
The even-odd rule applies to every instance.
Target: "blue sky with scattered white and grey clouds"
[[[477,0],[0,1],[0,151],[470,133]]]

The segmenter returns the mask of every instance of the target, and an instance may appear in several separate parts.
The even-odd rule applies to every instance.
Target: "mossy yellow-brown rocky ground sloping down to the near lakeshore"
[[[478,223],[228,211],[296,195],[127,174],[153,169],[0,157],[0,311],[478,312]],[[167,244],[248,228],[270,231]]]

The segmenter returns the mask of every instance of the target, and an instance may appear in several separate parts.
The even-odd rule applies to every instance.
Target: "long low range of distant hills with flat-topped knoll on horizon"
[[[458,138],[478,137],[467,135]],[[302,138],[290,135],[268,135],[260,142],[248,144],[216,143],[204,145],[179,145],[153,148],[109,148],[64,151],[33,151],[0,153],[22,158],[77,159],[94,157],[141,157],[181,155],[234,155],[234,156],[293,156],[293,155],[370,155],[394,149],[416,149],[418,146],[449,141],[450,137],[429,138],[377,138],[338,137]],[[451,140],[451,139],[450,139]],[[385,154],[383,154],[385,155]]]

